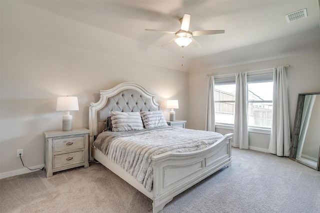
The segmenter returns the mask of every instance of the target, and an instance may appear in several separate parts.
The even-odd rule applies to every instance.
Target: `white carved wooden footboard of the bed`
[[[174,196],[222,167],[231,166],[232,135],[227,134],[202,150],[164,153],[152,157],[153,213],[158,213]]]

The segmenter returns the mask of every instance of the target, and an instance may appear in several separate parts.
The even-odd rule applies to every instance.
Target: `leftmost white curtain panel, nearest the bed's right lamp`
[[[206,98],[206,117],[205,130],[215,131],[214,127],[214,76],[207,76],[207,98]]]

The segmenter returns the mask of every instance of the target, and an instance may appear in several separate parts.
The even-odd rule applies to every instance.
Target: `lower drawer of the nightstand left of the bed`
[[[70,152],[53,156],[53,169],[71,164],[83,163],[84,151]]]

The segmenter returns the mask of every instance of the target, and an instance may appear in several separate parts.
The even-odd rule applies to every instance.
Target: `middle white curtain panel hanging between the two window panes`
[[[246,73],[236,73],[233,147],[239,147],[240,149],[249,148],[246,101]]]

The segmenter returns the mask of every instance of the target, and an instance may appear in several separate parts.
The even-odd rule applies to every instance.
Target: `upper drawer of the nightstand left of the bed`
[[[84,136],[69,137],[69,138],[54,138],[53,152],[66,151],[84,147]]]

